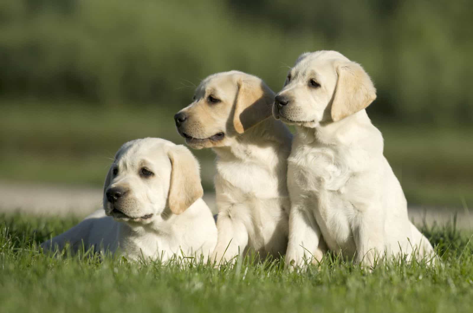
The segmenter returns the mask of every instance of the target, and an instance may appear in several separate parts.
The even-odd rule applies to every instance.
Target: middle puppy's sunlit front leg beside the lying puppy
[[[227,214],[219,213],[217,218],[218,239],[211,261],[225,263],[243,253],[248,244],[248,231],[239,219],[232,219]]]

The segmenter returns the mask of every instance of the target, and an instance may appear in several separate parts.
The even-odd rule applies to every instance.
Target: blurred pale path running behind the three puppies
[[[207,192],[203,198],[216,214],[215,194]],[[19,211],[27,214],[73,214],[83,217],[101,206],[101,188],[0,181],[0,213]],[[458,228],[473,229],[473,212],[470,214],[466,208],[409,208],[409,218],[416,225],[423,225],[424,222],[427,225],[444,225],[453,221],[455,215]]]

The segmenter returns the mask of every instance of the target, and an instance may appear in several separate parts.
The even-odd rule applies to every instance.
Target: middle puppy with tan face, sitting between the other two
[[[274,93],[239,71],[217,73],[197,87],[193,103],[175,115],[179,134],[217,155],[219,215],[213,260],[238,252],[278,257],[288,241],[287,157],[292,135],[271,118]]]

